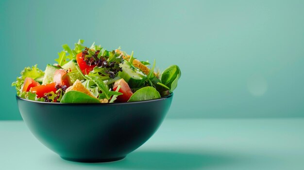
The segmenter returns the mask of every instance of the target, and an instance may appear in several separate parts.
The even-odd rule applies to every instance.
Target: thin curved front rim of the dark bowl
[[[24,100],[27,102],[33,102],[33,103],[38,103],[38,104],[46,104],[46,105],[128,105],[128,104],[137,104],[137,103],[149,103],[149,102],[153,102],[153,101],[159,101],[159,100],[164,100],[167,98],[170,98],[173,96],[173,93],[170,93],[167,96],[158,98],[158,99],[151,99],[151,100],[143,100],[143,101],[134,101],[134,102],[123,102],[123,103],[52,103],[52,102],[41,102],[41,101],[34,101],[34,100],[29,100],[29,99],[25,99],[22,97],[19,97],[16,94],[16,98],[17,100]]]

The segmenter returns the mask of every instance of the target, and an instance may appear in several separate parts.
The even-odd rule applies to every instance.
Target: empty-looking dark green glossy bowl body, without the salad
[[[124,158],[154,134],[172,96],[112,104],[46,103],[17,96],[17,104],[34,136],[63,159],[109,162]]]

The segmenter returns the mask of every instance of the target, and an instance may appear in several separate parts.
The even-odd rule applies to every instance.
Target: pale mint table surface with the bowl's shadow
[[[304,170],[304,119],[165,120],[112,163],[61,159],[22,121],[0,121],[1,170]]]

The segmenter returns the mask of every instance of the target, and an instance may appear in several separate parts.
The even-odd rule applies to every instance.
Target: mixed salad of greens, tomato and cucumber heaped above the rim
[[[57,63],[47,64],[45,71],[25,67],[12,83],[17,96],[34,101],[57,103],[118,103],[157,99],[177,87],[181,71],[171,65],[162,73],[155,60],[139,61],[118,49],[86,47],[84,40],[74,49],[63,45]]]

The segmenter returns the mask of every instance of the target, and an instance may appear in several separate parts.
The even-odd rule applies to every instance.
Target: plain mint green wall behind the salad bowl
[[[302,0],[0,1],[1,119],[11,82],[79,38],[180,66],[169,118],[304,116]]]

